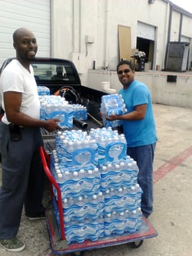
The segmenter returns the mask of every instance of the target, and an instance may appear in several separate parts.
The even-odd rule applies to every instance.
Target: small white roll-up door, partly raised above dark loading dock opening
[[[154,26],[137,22],[137,37],[154,41]]]

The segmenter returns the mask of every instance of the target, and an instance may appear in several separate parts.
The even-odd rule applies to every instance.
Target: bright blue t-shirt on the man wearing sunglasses
[[[129,88],[121,88],[119,94],[124,99],[128,113],[134,111],[135,106],[147,104],[144,119],[135,121],[123,121],[124,136],[128,147],[151,145],[157,141],[154,113],[151,94],[147,86],[141,81],[134,80]]]

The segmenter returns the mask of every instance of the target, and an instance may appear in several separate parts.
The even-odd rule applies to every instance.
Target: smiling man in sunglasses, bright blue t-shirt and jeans
[[[157,141],[151,94],[144,83],[134,80],[135,71],[131,62],[119,62],[117,72],[123,85],[119,94],[124,99],[127,113],[106,118],[123,121],[127,155],[137,161],[138,183],[143,190],[141,210],[147,218],[153,211],[153,161]]]

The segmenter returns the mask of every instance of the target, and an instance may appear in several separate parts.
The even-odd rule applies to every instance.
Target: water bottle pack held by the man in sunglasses
[[[121,120],[115,120],[115,121],[108,121],[105,116],[108,117],[111,116],[111,114],[114,115],[124,115],[127,113],[127,108],[124,104],[124,99],[121,97],[121,95],[114,94],[114,95],[103,95],[101,97],[101,113],[102,113],[102,119],[104,122],[104,127],[108,128],[116,128],[118,126],[122,125]]]

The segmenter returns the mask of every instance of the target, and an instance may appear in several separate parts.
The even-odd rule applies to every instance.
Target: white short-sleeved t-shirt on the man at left
[[[2,108],[4,107],[3,92],[18,91],[22,93],[22,104],[20,111],[31,118],[40,118],[40,101],[38,98],[38,88],[34,78],[32,66],[29,73],[18,60],[14,59],[2,71],[0,78],[0,93],[2,98]],[[5,115],[2,117],[5,124],[9,124]]]

